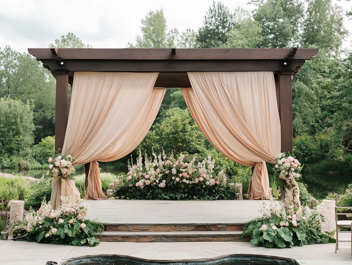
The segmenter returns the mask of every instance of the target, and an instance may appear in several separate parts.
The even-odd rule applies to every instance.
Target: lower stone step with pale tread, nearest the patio
[[[103,232],[102,242],[208,242],[250,241],[242,231]]]

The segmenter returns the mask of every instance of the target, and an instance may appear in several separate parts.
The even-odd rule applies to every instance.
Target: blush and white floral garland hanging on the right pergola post
[[[274,166],[274,174],[279,178],[278,187],[281,190],[281,196],[285,191],[285,188],[293,190],[293,197],[297,196],[296,180],[301,178],[301,170],[303,166],[290,154],[280,153],[275,156],[277,161]],[[298,198],[299,199],[299,198]]]

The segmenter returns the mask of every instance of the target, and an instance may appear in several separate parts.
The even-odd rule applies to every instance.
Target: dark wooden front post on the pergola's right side
[[[281,152],[293,149],[292,71],[278,72],[275,85],[281,123]]]

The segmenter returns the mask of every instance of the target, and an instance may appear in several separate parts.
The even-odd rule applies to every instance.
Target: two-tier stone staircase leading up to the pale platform
[[[241,238],[244,223],[105,223],[102,242],[250,241]]]

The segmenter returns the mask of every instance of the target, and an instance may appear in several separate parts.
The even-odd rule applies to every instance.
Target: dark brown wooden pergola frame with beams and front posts
[[[281,151],[293,148],[292,78],[318,49],[28,49],[56,78],[55,150],[68,120],[74,73],[159,72],[155,87],[191,87],[187,72],[272,71],[281,120]],[[137,96],[137,95],[136,95]]]

